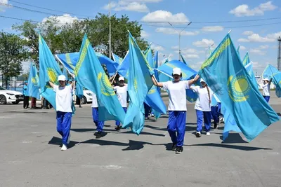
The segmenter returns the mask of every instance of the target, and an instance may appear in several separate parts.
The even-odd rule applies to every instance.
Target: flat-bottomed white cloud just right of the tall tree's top
[[[143,18],[141,18],[143,22],[189,22],[188,18],[184,13],[176,13],[172,14],[169,11],[155,11],[152,13],[148,13]]]

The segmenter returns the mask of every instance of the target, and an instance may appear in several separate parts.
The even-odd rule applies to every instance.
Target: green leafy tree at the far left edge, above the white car
[[[0,32],[0,71],[6,80],[18,76],[22,71],[22,61],[27,59],[25,42],[20,36]]]

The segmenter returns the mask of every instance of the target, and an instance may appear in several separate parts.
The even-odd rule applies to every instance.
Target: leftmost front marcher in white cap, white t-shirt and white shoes
[[[73,85],[66,85],[66,77],[58,76],[60,85],[49,82],[55,92],[55,106],[57,111],[57,131],[63,137],[62,151],[70,144],[70,127],[72,120],[72,90]]]

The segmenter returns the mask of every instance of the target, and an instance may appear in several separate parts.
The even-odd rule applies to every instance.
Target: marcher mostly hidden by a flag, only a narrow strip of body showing
[[[94,92],[92,92],[92,95],[93,95],[93,102],[92,102],[93,123],[95,123],[98,131],[95,133],[96,139],[99,139],[105,136],[105,133],[103,133],[103,126],[105,125],[105,122],[98,120],[98,99]]]

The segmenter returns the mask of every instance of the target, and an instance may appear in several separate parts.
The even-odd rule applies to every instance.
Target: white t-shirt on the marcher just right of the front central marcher
[[[194,109],[198,111],[211,111],[210,101],[213,98],[214,92],[212,92],[209,88],[209,99],[207,87],[202,88],[202,86],[190,86],[190,88],[195,91],[198,95]]]

